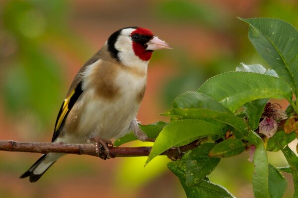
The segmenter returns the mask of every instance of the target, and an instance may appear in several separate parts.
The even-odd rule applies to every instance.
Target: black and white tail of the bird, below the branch
[[[36,182],[63,155],[61,153],[42,155],[20,178],[29,177],[30,182]]]

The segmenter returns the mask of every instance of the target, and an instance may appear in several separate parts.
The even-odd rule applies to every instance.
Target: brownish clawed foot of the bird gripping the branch
[[[113,147],[113,143],[111,140],[105,140],[99,137],[91,138],[91,142],[95,143],[96,152],[98,157],[106,160],[110,158],[110,150],[109,147]]]

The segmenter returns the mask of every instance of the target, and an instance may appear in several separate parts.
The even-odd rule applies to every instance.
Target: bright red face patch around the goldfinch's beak
[[[137,28],[135,31],[131,33],[131,36],[134,34],[139,34],[141,37],[144,38],[150,38],[153,37],[153,33],[146,28]],[[149,40],[148,40],[149,41]],[[145,42],[135,42],[133,41],[133,49],[135,54],[144,61],[148,61],[151,58],[152,51],[151,50],[146,50],[146,43],[148,42],[145,40]]]

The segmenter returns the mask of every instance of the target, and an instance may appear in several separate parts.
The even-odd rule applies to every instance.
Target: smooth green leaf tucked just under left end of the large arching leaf
[[[211,98],[202,93],[198,92],[186,92],[180,96],[178,96],[172,103],[173,108],[204,108],[211,109],[215,111],[221,111],[226,113],[231,113],[226,107],[224,107],[221,103],[215,101],[215,99]]]

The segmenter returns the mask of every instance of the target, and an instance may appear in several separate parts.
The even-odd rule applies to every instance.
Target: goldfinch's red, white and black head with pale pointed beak
[[[152,52],[172,49],[146,28],[128,27],[114,32],[107,41],[111,55],[124,65],[148,64]]]

